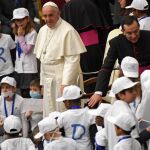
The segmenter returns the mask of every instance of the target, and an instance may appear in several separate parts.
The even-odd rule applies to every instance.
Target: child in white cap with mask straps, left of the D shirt
[[[44,150],[77,150],[74,140],[61,136],[56,119],[46,117],[38,123],[38,127],[39,133],[34,138],[44,137]]]

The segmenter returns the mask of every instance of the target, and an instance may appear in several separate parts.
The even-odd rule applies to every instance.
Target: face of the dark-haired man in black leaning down
[[[124,25],[122,31],[131,43],[136,43],[140,37],[140,27],[136,21],[134,21],[131,25]]]

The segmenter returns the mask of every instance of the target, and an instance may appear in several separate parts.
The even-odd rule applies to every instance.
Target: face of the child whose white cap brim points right
[[[130,88],[129,90],[125,91],[125,93],[119,93],[118,96],[120,97],[121,100],[131,103],[135,101],[137,97],[137,92],[135,88]]]

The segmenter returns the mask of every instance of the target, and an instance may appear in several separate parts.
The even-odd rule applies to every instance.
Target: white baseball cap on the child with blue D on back
[[[76,85],[66,86],[63,90],[62,97],[57,98],[57,102],[62,102],[65,100],[74,100],[83,96],[81,89]]]

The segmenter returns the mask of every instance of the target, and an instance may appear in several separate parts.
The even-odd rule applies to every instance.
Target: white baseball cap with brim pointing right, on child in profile
[[[118,94],[119,92],[134,87],[139,82],[132,82],[127,77],[120,77],[114,81],[112,84],[111,90],[114,94]]]

